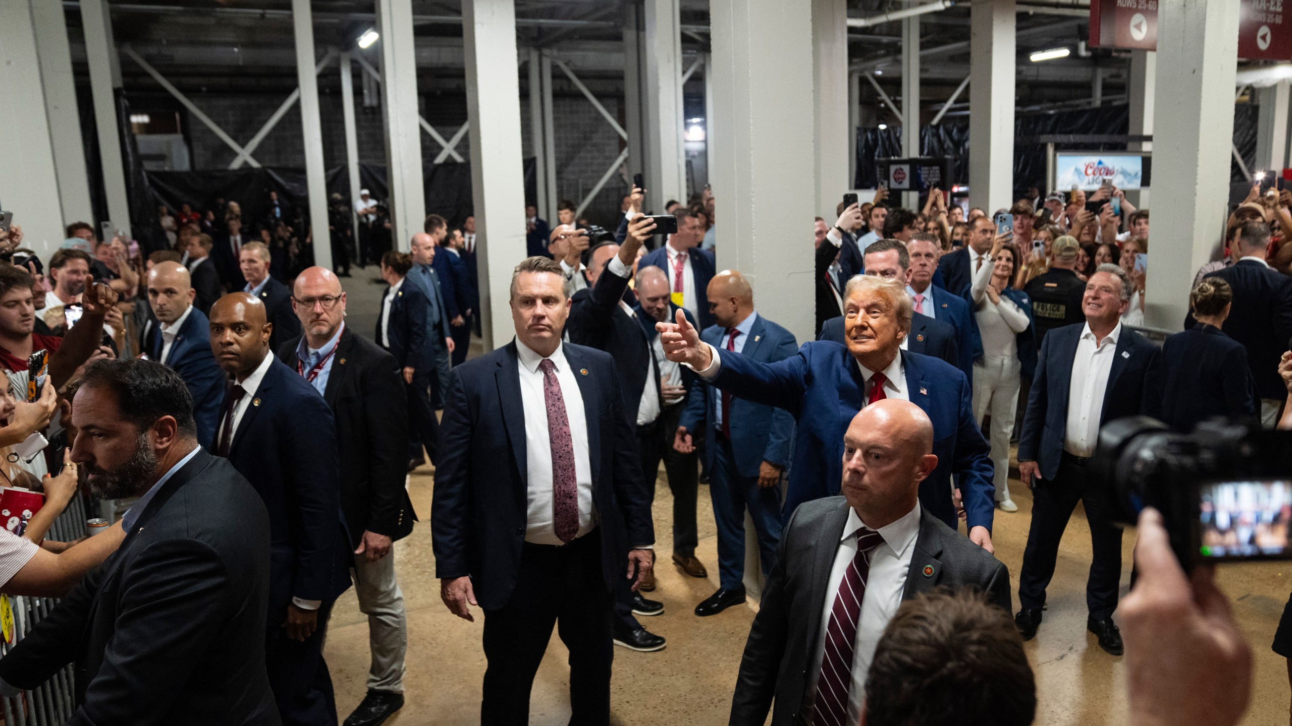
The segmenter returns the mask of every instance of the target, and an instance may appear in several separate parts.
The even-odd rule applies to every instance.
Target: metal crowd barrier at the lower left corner
[[[58,519],[54,519],[47,536],[57,541],[80,539],[85,534],[87,512],[98,514],[97,506],[93,506],[85,496],[74,496],[67,509],[58,515]],[[58,598],[48,597],[9,597],[8,599],[13,612],[13,643],[5,642],[0,637],[0,656],[8,654],[9,648],[30,633],[36,623],[47,617],[58,603]],[[76,710],[76,691],[72,678],[72,667],[68,664],[40,687],[23,691],[17,698],[0,699],[4,708],[4,726],[61,726],[66,723],[72,717],[72,712]]]

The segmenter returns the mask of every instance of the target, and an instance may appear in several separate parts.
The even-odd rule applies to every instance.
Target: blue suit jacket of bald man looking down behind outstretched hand
[[[713,347],[722,347],[726,344],[725,337],[726,328],[722,326],[711,326],[700,333],[700,338]],[[797,350],[798,342],[793,333],[758,315],[749,327],[740,355],[760,363],[775,363],[793,357]],[[704,460],[709,470],[713,469],[713,457],[717,452],[716,437],[720,430],[717,415],[721,406],[722,391],[695,376],[690,400],[682,411],[678,425],[691,434],[703,430],[704,439],[713,442],[704,447]],[[764,461],[782,469],[789,466],[795,417],[788,411],[733,397],[727,430],[731,431],[731,453],[736,459],[736,470],[742,477],[757,477],[758,465]]]

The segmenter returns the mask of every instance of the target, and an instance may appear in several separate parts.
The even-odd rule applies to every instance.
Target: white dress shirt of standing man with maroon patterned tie
[[[554,528],[552,492],[552,437],[548,433],[548,399],[543,391],[543,357],[516,340],[517,367],[521,373],[521,407],[525,410],[525,462],[528,469],[526,492],[525,541],[535,544],[563,544]],[[581,537],[597,526],[597,512],[592,503],[592,462],[588,452],[588,419],[583,410],[579,381],[565,357],[565,346],[548,358],[554,364],[566,419],[570,421],[570,443],[574,446],[574,473],[579,487],[579,534]]]

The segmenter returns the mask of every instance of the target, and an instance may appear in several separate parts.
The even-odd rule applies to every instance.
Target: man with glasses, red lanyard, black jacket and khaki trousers
[[[331,270],[301,271],[293,298],[305,335],[284,342],[278,359],[323,394],[336,419],[341,512],[359,611],[368,616],[368,692],[345,723],[375,726],[403,705],[408,636],[391,545],[417,519],[404,488],[404,380],[393,355],[345,324],[345,291]]]

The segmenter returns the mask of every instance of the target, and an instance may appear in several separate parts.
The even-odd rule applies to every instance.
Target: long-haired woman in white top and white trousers
[[[1009,434],[1018,408],[1018,385],[1036,368],[1032,336],[1032,304],[1021,289],[1010,287],[1018,269],[1018,251],[1000,239],[978,269],[969,288],[970,305],[982,335],[982,358],[973,364],[973,413],[982,428],[991,413],[991,461],[996,468],[996,506],[1017,512],[1009,499]]]

